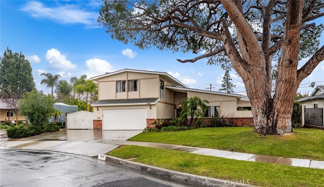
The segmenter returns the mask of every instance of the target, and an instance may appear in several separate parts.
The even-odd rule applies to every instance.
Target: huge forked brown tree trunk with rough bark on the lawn
[[[270,135],[293,132],[292,110],[301,81],[298,79],[297,66],[304,1],[288,1],[287,3],[288,16],[284,25],[285,33],[281,43],[281,57],[278,61],[273,97],[271,96],[271,56],[266,55],[266,50],[270,47],[268,32],[264,33],[260,46],[250,25],[242,16],[240,1],[224,0],[221,2],[235,24],[240,53],[235,53],[235,47],[227,39],[230,33],[226,29],[222,33],[224,47],[234,69],[245,83],[252,105],[255,131]],[[269,2],[266,15],[271,13],[269,12],[271,7],[273,7],[273,2]],[[269,22],[269,19],[264,21]],[[264,23],[265,31],[270,29],[269,23]]]

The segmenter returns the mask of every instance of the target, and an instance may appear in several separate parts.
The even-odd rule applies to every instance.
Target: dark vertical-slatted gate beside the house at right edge
[[[305,124],[323,127],[323,108],[305,108]]]

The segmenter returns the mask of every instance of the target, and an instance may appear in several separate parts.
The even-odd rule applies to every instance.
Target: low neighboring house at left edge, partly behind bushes
[[[26,116],[19,115],[16,116],[14,109],[5,102],[5,99],[0,99],[0,120],[3,121],[16,121],[16,120],[26,120]],[[17,121],[16,121],[17,122]]]

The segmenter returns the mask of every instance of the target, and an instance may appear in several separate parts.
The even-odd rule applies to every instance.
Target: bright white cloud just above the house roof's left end
[[[86,67],[88,72],[91,72],[89,78],[114,71],[108,61],[99,58],[88,59]]]

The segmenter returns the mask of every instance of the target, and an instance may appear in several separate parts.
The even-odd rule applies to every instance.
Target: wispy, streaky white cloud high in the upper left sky
[[[79,9],[76,5],[60,5],[46,7],[43,3],[30,1],[22,8],[34,18],[46,18],[61,24],[84,24],[89,27],[98,27],[96,22],[98,13],[87,12]]]

